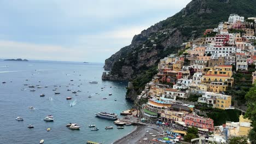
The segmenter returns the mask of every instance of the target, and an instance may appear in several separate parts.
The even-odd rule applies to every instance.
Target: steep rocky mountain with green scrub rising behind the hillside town
[[[193,0],[179,13],[135,35],[129,46],[106,59],[103,80],[129,80],[126,97],[134,100],[156,73],[161,58],[177,53],[181,44],[200,38],[207,28],[228,20],[230,14],[256,16],[255,0]]]

